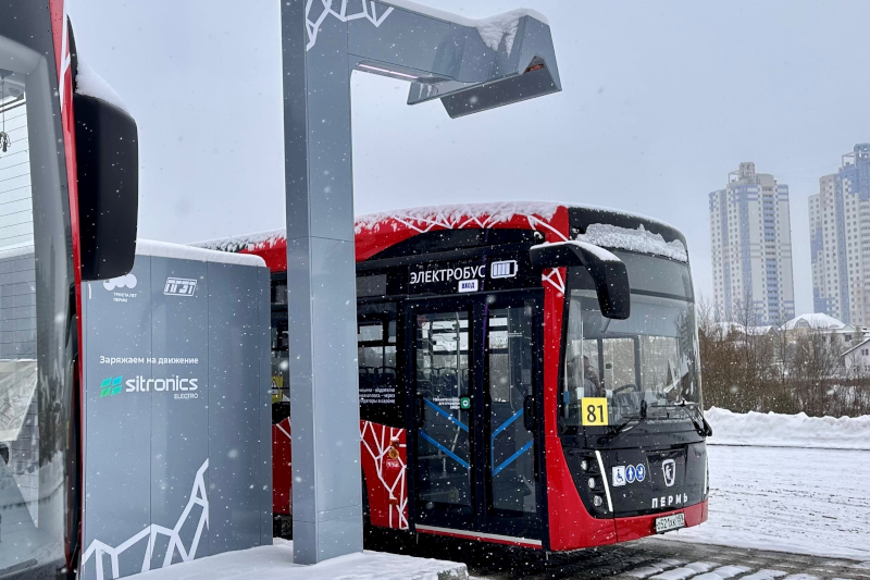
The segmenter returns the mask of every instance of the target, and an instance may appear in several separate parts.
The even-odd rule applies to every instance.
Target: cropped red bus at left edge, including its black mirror
[[[0,7],[0,577],[75,573],[83,280],[133,268],[137,131],[63,0]]]

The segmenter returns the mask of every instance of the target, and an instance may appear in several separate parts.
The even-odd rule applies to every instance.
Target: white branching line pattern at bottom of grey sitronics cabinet
[[[148,536],[148,547],[145,551],[145,558],[142,558],[141,569],[141,571],[146,572],[151,569],[151,553],[154,550],[154,540],[157,540],[158,534],[167,535],[170,538],[170,545],[166,547],[166,556],[163,558],[163,568],[172,564],[172,557],[175,555],[176,550],[178,551],[178,555],[182,556],[182,562],[189,562],[194,559],[197,554],[197,547],[199,546],[199,538],[202,535],[202,529],[209,525],[209,497],[206,493],[204,479],[206,470],[208,468],[209,460],[206,459],[206,462],[203,462],[202,467],[200,467],[197,471],[197,477],[194,480],[194,488],[190,490],[190,498],[187,501],[187,506],[185,506],[182,516],[178,518],[178,521],[175,523],[173,529],[152,523],[116,547],[112,547],[103,542],[100,542],[99,540],[94,540],[85,551],[85,555],[82,558],[82,566],[84,567],[84,565],[87,564],[90,556],[95,556],[97,558],[97,578],[99,580],[103,580],[105,577],[103,576],[102,556],[103,554],[109,554],[112,559],[111,578],[117,578],[117,557],[127,548],[138,543],[139,540]],[[190,543],[190,550],[187,551],[185,550],[178,533],[187,521],[187,517],[190,515],[190,510],[195,505],[201,506],[202,513],[199,515],[199,522],[197,523],[197,531],[194,534],[194,541]]]

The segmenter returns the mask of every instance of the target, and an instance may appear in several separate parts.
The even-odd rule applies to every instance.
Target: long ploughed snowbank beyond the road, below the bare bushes
[[[712,407],[704,417],[713,428],[709,445],[870,451],[870,415],[836,419]]]

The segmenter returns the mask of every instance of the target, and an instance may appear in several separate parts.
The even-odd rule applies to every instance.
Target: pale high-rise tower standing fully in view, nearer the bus
[[[788,186],[741,163],[710,194],[713,307],[722,321],[779,324],[795,316]]]

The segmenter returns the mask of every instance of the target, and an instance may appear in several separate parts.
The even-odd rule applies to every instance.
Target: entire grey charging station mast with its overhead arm
[[[400,0],[282,2],[297,563],[362,550],[350,74],[410,81],[409,104],[442,99],[451,118],[561,90],[546,18],[506,16],[494,28]]]

